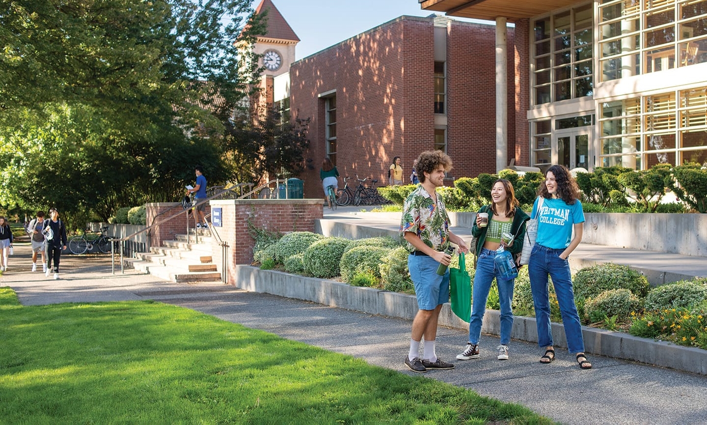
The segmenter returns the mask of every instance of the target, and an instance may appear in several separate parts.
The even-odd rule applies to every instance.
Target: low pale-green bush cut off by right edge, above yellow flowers
[[[707,300],[707,278],[677,281],[653,288],[645,297],[643,308],[666,310],[670,308],[692,308]]]

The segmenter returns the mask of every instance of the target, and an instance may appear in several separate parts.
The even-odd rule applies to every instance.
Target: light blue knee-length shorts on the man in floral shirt
[[[440,263],[427,255],[408,255],[407,267],[415,286],[417,308],[434,310],[449,302],[449,269],[444,276],[437,274]]]

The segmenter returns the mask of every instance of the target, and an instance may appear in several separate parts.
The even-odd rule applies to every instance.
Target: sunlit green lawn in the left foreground
[[[3,424],[550,424],[518,404],[162,303],[0,289]]]

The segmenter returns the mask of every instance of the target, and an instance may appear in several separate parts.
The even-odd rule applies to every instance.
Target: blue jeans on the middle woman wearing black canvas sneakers
[[[501,303],[501,344],[508,345],[510,342],[510,331],[513,329],[513,309],[510,303],[513,301],[513,286],[515,279],[499,279],[501,272],[496,269],[493,258],[496,251],[481,249],[479,260],[477,261],[477,272],[474,274],[474,289],[472,292],[472,318],[469,321],[469,342],[479,344],[481,337],[481,322],[486,313],[486,301],[489,298],[491,281],[496,277],[498,286],[498,300]]]

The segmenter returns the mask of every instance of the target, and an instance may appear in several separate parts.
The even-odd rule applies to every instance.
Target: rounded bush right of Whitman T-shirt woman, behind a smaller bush
[[[585,267],[575,274],[575,298],[594,298],[609,289],[625,288],[643,298],[650,285],[641,273],[619,264],[597,264]]]

